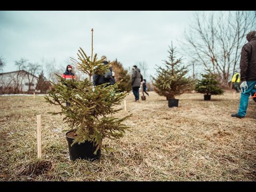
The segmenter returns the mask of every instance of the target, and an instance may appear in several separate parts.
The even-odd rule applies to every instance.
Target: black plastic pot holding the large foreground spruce
[[[71,131],[69,131],[71,132]],[[96,150],[97,146],[93,146],[92,142],[85,141],[84,143],[81,143],[80,145],[78,143],[75,143],[73,146],[71,144],[73,143],[74,139],[69,138],[66,133],[66,139],[68,141],[68,150],[69,150],[69,156],[70,160],[75,161],[78,158],[81,159],[87,159],[89,161],[94,161],[95,159],[100,158],[101,156],[101,149],[97,151],[97,154],[94,155],[94,151]]]

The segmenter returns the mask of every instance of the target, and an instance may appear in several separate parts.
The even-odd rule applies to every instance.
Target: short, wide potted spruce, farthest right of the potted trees
[[[205,101],[210,101],[211,95],[223,94],[223,90],[217,81],[217,75],[211,73],[201,75],[202,79],[197,80],[195,91],[198,93],[203,93]]]

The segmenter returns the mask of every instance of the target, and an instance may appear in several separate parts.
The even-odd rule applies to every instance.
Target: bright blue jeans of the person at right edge
[[[256,89],[254,88],[256,81],[247,81],[247,85],[248,89],[245,91],[245,93],[241,93],[240,105],[237,113],[241,116],[245,116],[246,114],[250,94],[253,95],[256,92]]]

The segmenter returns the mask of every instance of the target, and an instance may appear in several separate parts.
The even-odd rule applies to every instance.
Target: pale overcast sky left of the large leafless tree
[[[55,59],[58,68],[75,57],[79,47],[117,59],[125,68],[145,61],[149,73],[167,59],[168,45],[188,27],[194,11],[0,11],[0,56],[4,72],[16,70],[15,60]]]

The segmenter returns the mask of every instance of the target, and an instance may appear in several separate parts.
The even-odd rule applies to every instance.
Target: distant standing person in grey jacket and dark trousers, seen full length
[[[137,66],[132,67],[132,92],[135,96],[135,101],[139,101],[140,99],[140,84],[142,82],[142,75],[140,74],[140,69],[137,68]]]

